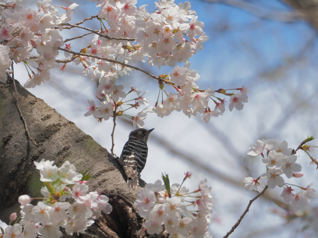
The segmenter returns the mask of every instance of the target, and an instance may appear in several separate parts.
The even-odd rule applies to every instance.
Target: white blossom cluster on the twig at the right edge
[[[257,179],[252,177],[245,178],[246,190],[254,189],[261,192],[265,186],[259,179],[267,180],[268,188],[275,188],[276,186],[284,187],[280,196],[284,202],[291,202],[294,211],[298,208],[304,208],[310,202],[310,199],[314,199],[317,196],[315,189],[310,188],[314,185],[313,183],[309,184],[306,188],[297,186],[302,191],[293,193],[294,189],[292,189],[292,186],[288,187],[281,176],[283,174],[287,178],[299,178],[303,176],[303,174],[297,173],[301,171],[301,165],[296,163],[297,156],[292,153],[293,150],[291,148],[288,148],[286,141],[280,142],[272,139],[257,140],[248,150],[248,155],[261,155],[263,157],[262,162],[266,165],[266,173]],[[264,150],[267,150],[267,157],[263,154]]]

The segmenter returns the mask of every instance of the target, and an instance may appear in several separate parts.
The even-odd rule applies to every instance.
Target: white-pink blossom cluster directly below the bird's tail
[[[190,177],[189,173],[183,182],[187,177]],[[192,193],[189,193],[189,188],[182,187],[182,184],[170,185],[169,180],[164,182],[162,184],[161,180],[157,180],[154,184],[146,184],[145,190],[138,190],[134,204],[139,209],[140,216],[146,217],[147,221],[137,234],[145,231],[149,235],[161,234],[164,226],[170,234],[169,238],[183,238],[189,234],[194,238],[212,237],[208,232],[208,225],[211,223],[213,203],[207,180],[201,181],[199,189]]]

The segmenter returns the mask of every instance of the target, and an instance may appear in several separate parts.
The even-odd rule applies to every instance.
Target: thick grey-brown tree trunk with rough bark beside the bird
[[[102,214],[88,233],[98,237],[136,237],[142,227],[142,218],[133,206],[136,192],[127,187],[117,160],[73,122],[15,82],[20,109],[39,146],[27,139],[13,81],[0,83],[0,219],[8,221],[12,212],[19,213],[19,195],[41,195],[42,183],[33,161],[54,160],[59,166],[68,160],[78,171],[90,168],[90,189],[107,195],[113,206],[113,212]],[[140,182],[143,187],[144,182]]]

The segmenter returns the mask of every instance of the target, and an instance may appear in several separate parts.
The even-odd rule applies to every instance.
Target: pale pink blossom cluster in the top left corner
[[[30,64],[26,60],[30,58],[33,49],[36,49],[38,55],[37,65],[31,64],[31,67],[37,69],[37,73],[28,67],[32,75],[29,72],[29,80],[24,85],[26,88],[34,88],[50,79],[49,70],[53,68],[55,58],[59,55],[58,47],[64,45],[59,34],[62,30],[60,24],[72,20],[72,9],[78,4],[64,7],[66,13],[60,16],[58,9],[51,5],[51,0],[38,1],[37,6],[37,10],[25,9],[16,1],[9,1],[1,8],[0,42],[6,44],[0,46],[1,67],[4,69],[11,65],[10,57],[15,63]],[[12,50],[10,57],[8,47]],[[3,83],[7,80],[5,72],[1,70],[0,81]]]

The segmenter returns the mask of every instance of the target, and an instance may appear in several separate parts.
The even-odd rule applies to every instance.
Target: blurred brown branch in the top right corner
[[[318,0],[282,0],[294,10],[299,11],[303,18],[318,30]]]

